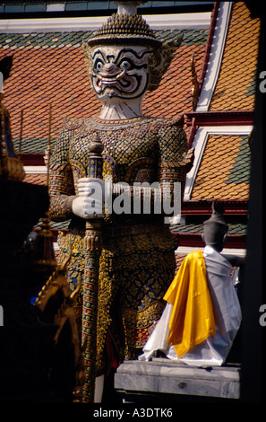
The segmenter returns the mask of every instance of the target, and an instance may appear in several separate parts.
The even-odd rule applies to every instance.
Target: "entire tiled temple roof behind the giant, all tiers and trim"
[[[156,34],[171,41],[181,32],[182,45],[159,88],[146,95],[143,112],[164,118],[185,115],[184,129],[195,148],[195,160],[186,179],[183,215],[208,215],[212,200],[223,201],[225,214],[231,215],[230,232],[242,236],[249,198],[260,21],[251,18],[244,2],[220,2],[214,4],[210,28],[195,24],[193,29],[160,30]],[[25,164],[33,160],[35,165],[44,166],[50,104],[52,148],[64,116],[75,119],[99,112],[101,104],[90,87],[82,51],[82,40],[93,33],[0,33],[0,59],[13,55],[12,72],[4,84],[4,105],[11,114],[16,149],[23,110],[21,153]],[[201,88],[196,108],[192,101],[192,56]],[[46,176],[37,167],[34,174],[31,168],[25,181],[45,184]],[[175,225],[174,232],[199,234],[197,227],[196,221],[187,218],[186,224]]]

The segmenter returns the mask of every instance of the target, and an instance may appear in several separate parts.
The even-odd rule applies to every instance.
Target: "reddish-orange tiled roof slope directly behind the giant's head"
[[[208,31],[183,32],[183,45],[159,89],[149,92],[143,101],[145,114],[172,118],[192,110],[190,61],[194,53],[200,76]],[[39,144],[47,139],[50,103],[52,139],[58,136],[64,116],[75,119],[99,112],[101,103],[90,87],[82,50],[82,40],[90,35],[89,32],[0,34],[0,59],[13,54],[3,102],[11,113],[14,140],[20,136],[23,110],[22,153],[33,139],[39,140]],[[166,40],[179,35],[180,31],[159,31],[159,37]]]

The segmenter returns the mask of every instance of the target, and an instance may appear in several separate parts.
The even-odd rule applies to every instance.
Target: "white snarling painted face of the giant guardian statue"
[[[90,80],[99,100],[141,97],[148,87],[152,53],[151,48],[144,46],[91,48]]]

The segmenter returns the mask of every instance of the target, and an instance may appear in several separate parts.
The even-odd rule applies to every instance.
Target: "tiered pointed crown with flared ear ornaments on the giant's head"
[[[87,66],[91,72],[90,48],[103,45],[141,45],[153,49],[150,57],[150,82],[148,90],[154,91],[159,87],[162,76],[166,73],[180,47],[183,34],[174,42],[162,42],[156,38],[154,31],[142,16],[136,13],[137,5],[145,2],[115,2],[118,4],[117,13],[114,13],[104,22],[99,31],[96,31],[90,40],[83,43]]]

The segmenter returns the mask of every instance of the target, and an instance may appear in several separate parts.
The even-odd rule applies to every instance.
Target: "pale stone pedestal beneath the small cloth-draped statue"
[[[116,391],[127,395],[160,394],[239,399],[240,365],[197,367],[177,364],[166,358],[150,362],[125,361],[115,375]],[[177,398],[177,397],[176,397]]]

